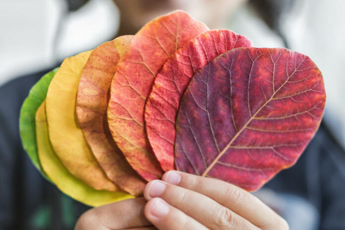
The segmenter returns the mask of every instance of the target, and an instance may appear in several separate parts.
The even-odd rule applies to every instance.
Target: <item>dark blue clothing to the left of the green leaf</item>
[[[31,87],[49,71],[0,87],[0,230],[71,230],[89,209],[44,179],[20,141],[20,107]]]

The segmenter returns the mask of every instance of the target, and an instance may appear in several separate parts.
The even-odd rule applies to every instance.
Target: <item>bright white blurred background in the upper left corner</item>
[[[68,14],[64,0],[0,0],[0,85],[111,40],[118,21],[112,0]]]

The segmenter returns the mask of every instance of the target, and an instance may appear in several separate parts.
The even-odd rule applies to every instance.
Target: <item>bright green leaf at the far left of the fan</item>
[[[46,99],[48,86],[53,79],[58,68],[45,74],[30,90],[25,99],[19,117],[19,131],[23,148],[27,152],[34,166],[49,180],[43,171],[37,155],[36,133],[35,133],[35,114],[42,102]]]

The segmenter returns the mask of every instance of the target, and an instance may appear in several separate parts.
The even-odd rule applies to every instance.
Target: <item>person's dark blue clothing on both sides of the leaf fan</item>
[[[0,87],[0,230],[73,229],[88,209],[45,180],[21,145],[20,107],[48,71]],[[320,229],[345,230],[345,153],[324,125],[296,165],[265,186],[309,200],[320,212]]]

